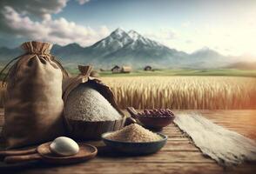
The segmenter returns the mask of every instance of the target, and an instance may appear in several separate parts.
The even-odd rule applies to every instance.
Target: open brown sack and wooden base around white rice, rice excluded
[[[89,77],[91,73],[91,66],[78,66],[80,74],[77,77],[71,77],[64,82],[64,123],[70,137],[75,139],[87,140],[87,139],[100,139],[101,134],[107,131],[118,131],[124,127],[125,114],[119,109],[115,100],[115,96],[110,87],[103,84],[97,78]],[[109,101],[109,103],[115,108],[122,116],[121,119],[116,121],[98,121],[98,122],[86,122],[82,120],[73,120],[69,117],[65,117],[65,104],[67,98],[72,90],[74,90],[79,84],[89,84],[94,90],[98,92]]]

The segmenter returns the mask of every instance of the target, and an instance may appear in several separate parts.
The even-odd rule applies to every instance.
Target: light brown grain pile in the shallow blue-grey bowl
[[[112,132],[106,138],[121,142],[132,143],[154,142],[162,139],[162,137],[158,136],[158,134],[146,130],[138,124],[127,125],[120,131]]]

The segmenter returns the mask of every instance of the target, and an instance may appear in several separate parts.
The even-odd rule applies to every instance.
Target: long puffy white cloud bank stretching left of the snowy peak
[[[2,16],[0,30],[5,33],[61,45],[79,43],[87,46],[110,33],[106,26],[96,31],[91,27],[69,22],[64,17],[52,19],[49,14],[46,14],[41,22],[33,21],[10,6],[3,8]]]

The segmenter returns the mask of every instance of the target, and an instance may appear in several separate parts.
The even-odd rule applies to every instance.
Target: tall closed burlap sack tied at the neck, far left
[[[7,148],[39,144],[64,134],[62,80],[69,75],[50,54],[51,43],[27,42],[21,47],[25,53],[12,60],[17,62],[5,77],[3,137]]]

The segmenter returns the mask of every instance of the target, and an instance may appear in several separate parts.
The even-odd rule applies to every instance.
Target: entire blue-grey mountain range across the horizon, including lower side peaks
[[[131,65],[143,68],[218,68],[235,63],[232,57],[220,55],[209,48],[197,50],[192,54],[166,47],[140,35],[135,30],[125,32],[118,28],[108,37],[88,47],[77,43],[65,46],[55,44],[51,53],[59,57],[65,66],[75,68],[77,64],[92,64],[97,68],[109,69],[113,65]],[[0,62],[6,64],[11,57],[22,54],[22,50],[0,48]]]

